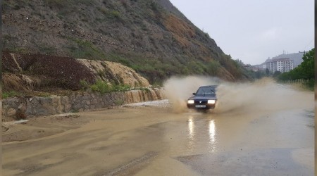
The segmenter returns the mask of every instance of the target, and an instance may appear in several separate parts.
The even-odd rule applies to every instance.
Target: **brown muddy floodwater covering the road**
[[[222,105],[209,113],[176,103],[178,113],[173,106],[80,113],[90,122],[79,128],[4,143],[3,174],[313,175],[313,93],[273,82],[244,85],[234,92],[222,83],[219,92],[228,94],[220,93]],[[232,99],[248,87],[253,99]],[[263,87],[279,97],[259,95]]]

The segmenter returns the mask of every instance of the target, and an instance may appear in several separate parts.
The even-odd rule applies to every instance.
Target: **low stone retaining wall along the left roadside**
[[[40,115],[89,111],[126,103],[164,99],[163,89],[131,90],[109,94],[72,94],[70,96],[15,97],[2,100],[2,120],[18,120]]]

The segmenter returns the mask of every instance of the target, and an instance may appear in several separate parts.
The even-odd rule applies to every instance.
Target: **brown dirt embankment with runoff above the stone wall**
[[[89,84],[102,80],[108,84],[127,84],[129,87],[151,86],[135,70],[108,61],[4,52],[2,67],[4,91],[79,90],[82,80]]]

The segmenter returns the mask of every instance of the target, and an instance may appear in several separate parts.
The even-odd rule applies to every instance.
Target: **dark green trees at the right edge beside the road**
[[[308,87],[313,87],[315,84],[315,49],[311,49],[303,56],[303,62],[297,67],[294,68],[294,70],[290,70],[290,72],[287,73],[277,73],[275,72],[275,77],[279,81],[282,82],[292,82],[301,80],[300,82],[303,82]]]

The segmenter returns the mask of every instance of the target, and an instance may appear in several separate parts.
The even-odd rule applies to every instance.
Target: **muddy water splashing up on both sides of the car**
[[[313,92],[298,91],[271,78],[256,82],[232,83],[215,77],[172,77],[164,84],[166,96],[175,112],[187,110],[186,101],[198,87],[218,84],[213,113],[250,113],[294,108],[313,108]]]

